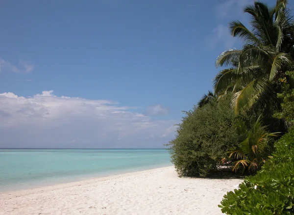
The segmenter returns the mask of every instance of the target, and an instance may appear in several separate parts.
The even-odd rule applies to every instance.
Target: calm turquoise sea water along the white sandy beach
[[[169,165],[165,149],[0,149],[0,191]]]

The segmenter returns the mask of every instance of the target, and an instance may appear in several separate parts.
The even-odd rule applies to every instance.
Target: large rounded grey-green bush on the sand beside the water
[[[172,162],[182,176],[206,176],[240,142],[230,98],[185,112],[170,144]]]

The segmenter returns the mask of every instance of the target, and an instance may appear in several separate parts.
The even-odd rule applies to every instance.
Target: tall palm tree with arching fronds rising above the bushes
[[[216,61],[223,69],[214,80],[216,95],[233,92],[232,106],[238,113],[256,104],[276,101],[279,79],[294,70],[294,22],[287,0],[277,0],[273,8],[256,1],[245,7],[251,30],[240,21],[230,23],[233,37],[245,43],[243,49],[223,52]]]

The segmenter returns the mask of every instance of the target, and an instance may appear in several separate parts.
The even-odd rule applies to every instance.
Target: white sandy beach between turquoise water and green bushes
[[[178,178],[171,166],[0,193],[0,214],[218,215],[222,196],[241,182]]]

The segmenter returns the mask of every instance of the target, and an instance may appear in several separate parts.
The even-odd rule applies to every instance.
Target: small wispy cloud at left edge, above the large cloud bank
[[[0,58],[0,73],[3,71],[14,73],[30,73],[35,66],[31,63],[21,60],[19,66],[15,66],[12,63]]]

